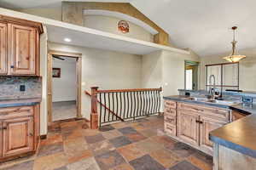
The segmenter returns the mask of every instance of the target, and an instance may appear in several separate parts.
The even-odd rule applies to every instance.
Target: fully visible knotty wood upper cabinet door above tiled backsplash
[[[9,24],[9,74],[35,75],[37,30],[29,26]]]

